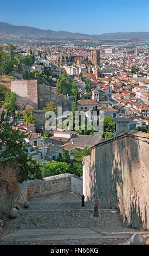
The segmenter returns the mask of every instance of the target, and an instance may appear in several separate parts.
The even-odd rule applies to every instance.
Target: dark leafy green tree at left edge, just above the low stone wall
[[[12,124],[7,121],[0,122],[0,150],[6,148],[1,157],[13,157],[3,163],[3,166],[11,164],[17,170],[18,182],[31,179],[29,175],[33,175],[33,179],[42,178],[41,163],[29,157],[24,150],[24,133],[20,130],[14,130]]]

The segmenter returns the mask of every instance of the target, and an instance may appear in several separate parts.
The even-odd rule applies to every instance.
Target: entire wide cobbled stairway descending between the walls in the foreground
[[[34,198],[28,208],[17,209],[15,219],[5,212],[8,232],[0,233],[0,245],[126,245],[134,233],[148,235],[125,227],[116,209],[99,209],[94,218],[93,202],[82,207],[73,192]]]

